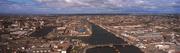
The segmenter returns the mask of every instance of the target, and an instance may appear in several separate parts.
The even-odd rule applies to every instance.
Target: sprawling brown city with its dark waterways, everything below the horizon
[[[176,15],[2,16],[0,20],[2,53],[168,53],[175,52],[180,38]]]

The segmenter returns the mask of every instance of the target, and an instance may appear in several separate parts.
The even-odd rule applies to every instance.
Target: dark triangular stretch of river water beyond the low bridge
[[[92,24],[92,36],[88,39],[89,44],[124,44],[127,43],[121,38],[116,37],[114,34],[106,31],[105,29]]]

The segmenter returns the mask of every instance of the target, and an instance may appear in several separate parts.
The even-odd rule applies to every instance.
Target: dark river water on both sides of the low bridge
[[[89,44],[115,44],[113,47],[95,47],[87,49],[86,53],[143,53],[139,48],[133,45],[117,45],[126,44],[127,42],[121,38],[116,37],[114,34],[106,31],[105,29],[92,24],[92,36],[87,40]]]

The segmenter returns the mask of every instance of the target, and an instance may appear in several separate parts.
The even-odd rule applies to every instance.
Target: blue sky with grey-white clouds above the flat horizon
[[[180,0],[0,0],[0,13],[180,13]]]

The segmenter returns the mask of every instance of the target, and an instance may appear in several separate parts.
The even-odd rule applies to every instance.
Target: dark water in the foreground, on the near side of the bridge
[[[132,45],[114,45],[113,47],[104,46],[104,47],[95,47],[90,48],[86,51],[86,53],[143,53],[139,50],[139,48],[134,47]]]

